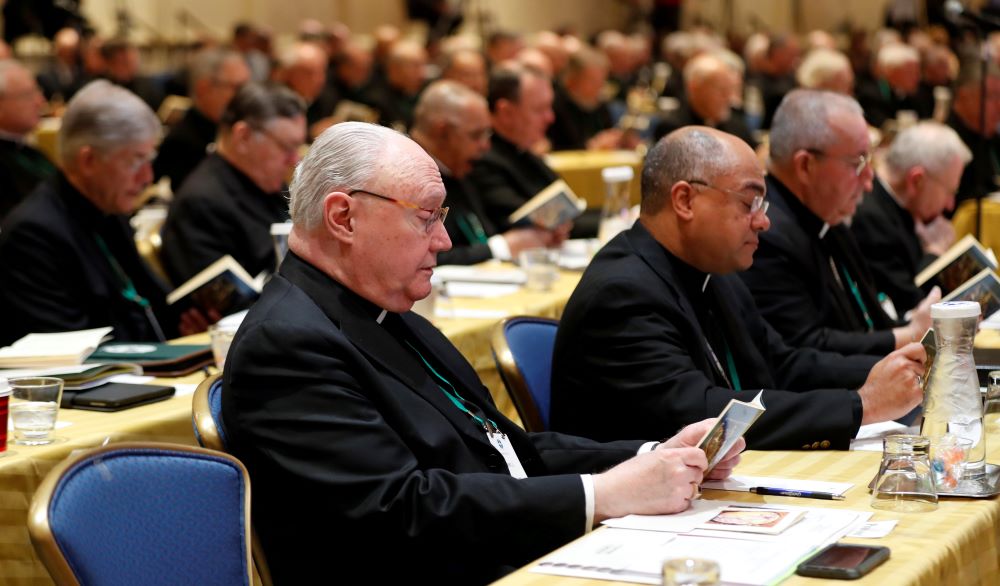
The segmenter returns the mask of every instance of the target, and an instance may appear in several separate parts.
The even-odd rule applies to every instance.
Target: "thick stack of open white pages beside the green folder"
[[[0,348],[0,368],[35,368],[82,364],[111,336],[111,328],[75,332],[28,334],[10,346]]]

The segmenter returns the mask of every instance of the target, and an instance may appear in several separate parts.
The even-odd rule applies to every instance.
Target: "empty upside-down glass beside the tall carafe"
[[[921,435],[890,435],[882,440],[882,463],[872,490],[873,508],[899,513],[937,508],[930,443]]]

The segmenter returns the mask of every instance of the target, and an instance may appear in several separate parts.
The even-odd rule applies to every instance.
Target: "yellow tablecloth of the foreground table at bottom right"
[[[992,426],[987,439],[988,460],[1000,460],[1000,429]],[[1000,502],[941,499],[930,513],[891,513],[871,509],[867,485],[878,471],[881,454],[875,452],[746,452],[737,467],[739,474],[822,478],[852,482],[844,501],[821,501],[790,497],[758,496],[729,491],[704,491],[703,498],[749,503],[787,504],[806,507],[836,507],[874,511],[872,520],[898,519],[899,524],[884,539],[845,538],[843,541],[887,545],[888,561],[852,584],[878,586],[940,586],[1000,584]],[[582,539],[586,539],[586,536]],[[529,564],[496,582],[496,586],[601,586],[626,584],[580,578],[564,578],[529,572]],[[783,586],[844,584],[840,580],[820,580],[792,576]]]

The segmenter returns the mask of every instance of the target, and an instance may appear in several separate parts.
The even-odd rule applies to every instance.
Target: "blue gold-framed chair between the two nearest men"
[[[559,321],[510,317],[493,330],[493,360],[527,431],[548,431],[552,348]]]

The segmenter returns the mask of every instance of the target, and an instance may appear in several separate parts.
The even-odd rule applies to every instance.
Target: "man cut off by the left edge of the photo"
[[[13,59],[0,60],[0,220],[56,168],[28,135],[45,108],[34,76]]]

